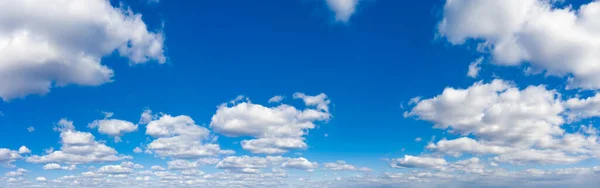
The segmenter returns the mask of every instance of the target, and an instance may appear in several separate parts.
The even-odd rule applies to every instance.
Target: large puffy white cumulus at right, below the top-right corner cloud
[[[446,88],[407,115],[492,143],[535,144],[564,133],[564,108],[556,95],[544,86],[519,90],[503,80],[478,82],[468,89]]]

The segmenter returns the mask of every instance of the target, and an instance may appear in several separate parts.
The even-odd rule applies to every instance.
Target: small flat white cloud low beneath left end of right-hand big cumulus
[[[405,155],[404,158],[392,159],[390,164],[394,168],[441,168],[447,165],[443,158],[417,157]]]

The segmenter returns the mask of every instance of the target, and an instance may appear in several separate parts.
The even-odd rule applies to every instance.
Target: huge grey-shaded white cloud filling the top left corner
[[[141,17],[108,0],[1,0],[0,98],[111,82],[101,59],[114,51],[132,64],[164,63],[164,37]]]

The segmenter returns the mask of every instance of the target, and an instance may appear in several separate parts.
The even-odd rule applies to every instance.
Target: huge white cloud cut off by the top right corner
[[[577,9],[561,2],[448,0],[439,34],[452,44],[479,42],[497,65],[528,63],[530,73],[569,76],[569,88],[598,89],[600,2]]]

